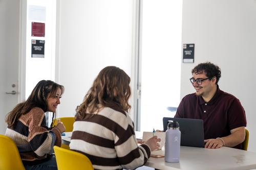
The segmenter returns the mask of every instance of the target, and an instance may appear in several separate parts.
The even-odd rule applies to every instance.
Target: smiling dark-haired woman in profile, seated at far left
[[[58,123],[49,130],[45,112],[56,112],[63,92],[63,86],[41,80],[29,98],[6,115],[8,128],[5,135],[16,143],[27,170],[57,170],[55,157],[51,153],[53,145],[61,145],[61,133],[65,132],[65,126]]]

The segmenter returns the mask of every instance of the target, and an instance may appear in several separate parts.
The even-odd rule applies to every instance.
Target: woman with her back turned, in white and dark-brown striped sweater
[[[135,169],[158,149],[156,136],[138,145],[131,108],[130,77],[115,66],[103,68],[75,115],[70,149],[91,160],[95,169]]]

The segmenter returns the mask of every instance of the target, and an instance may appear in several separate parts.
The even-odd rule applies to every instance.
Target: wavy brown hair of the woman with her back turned
[[[84,100],[76,109],[76,119],[93,116],[101,107],[110,107],[120,112],[127,112],[131,106],[130,77],[120,68],[108,66],[103,68],[93,82],[93,86],[84,96]],[[100,106],[99,106],[100,105]]]

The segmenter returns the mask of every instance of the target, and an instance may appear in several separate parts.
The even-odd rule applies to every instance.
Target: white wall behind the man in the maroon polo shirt
[[[183,0],[182,43],[195,43],[195,63],[182,63],[181,98],[194,89],[191,69],[210,61],[221,67],[220,89],[244,106],[250,133],[249,151],[256,152],[255,0]]]

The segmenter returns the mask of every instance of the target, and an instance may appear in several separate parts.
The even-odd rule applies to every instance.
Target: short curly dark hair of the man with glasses
[[[205,72],[205,75],[211,80],[216,77],[216,84],[218,84],[221,78],[221,68],[218,65],[214,65],[211,62],[198,64],[195,68],[192,69],[192,74],[202,74]]]

